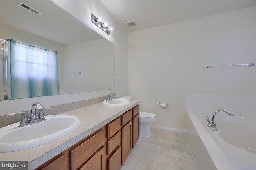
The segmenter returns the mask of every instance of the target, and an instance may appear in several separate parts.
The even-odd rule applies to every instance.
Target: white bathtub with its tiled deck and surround
[[[193,147],[196,148],[194,149],[195,153],[192,152],[195,164],[206,162],[206,160],[200,159],[205,159],[207,156],[211,159],[207,164],[209,161],[214,164],[210,168],[206,165],[198,165],[200,167],[198,168],[196,165],[198,170],[206,168],[211,170],[256,170],[256,117],[253,115],[254,112],[248,110],[253,109],[253,106],[244,108],[245,112],[242,113],[237,111],[237,109],[241,109],[240,107],[244,107],[242,106],[243,102],[246,102],[244,99],[249,100],[251,97],[187,96],[186,124],[188,127],[186,127],[186,133],[191,150],[193,151]],[[256,98],[252,99],[256,101]],[[207,104],[207,102],[210,103]],[[237,106],[238,103],[239,106]],[[228,109],[224,106],[225,104]],[[236,107],[239,108],[236,109]],[[216,108],[227,109],[235,116],[231,117],[224,112],[218,112],[215,117],[218,131],[212,131],[212,128],[205,123],[205,116],[211,119]],[[199,137],[203,147],[195,146],[198,145],[198,141],[192,141],[195,137]],[[196,156],[197,150],[203,149],[206,152]],[[206,154],[208,155],[206,156]],[[201,158],[195,160],[198,157]]]

